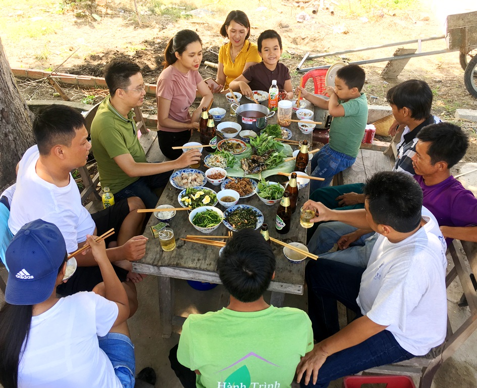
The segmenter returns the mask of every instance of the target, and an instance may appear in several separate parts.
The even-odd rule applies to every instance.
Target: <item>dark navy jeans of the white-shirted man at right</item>
[[[339,331],[336,301],[361,315],[356,303],[363,268],[335,261],[311,260],[305,270],[308,286],[308,315],[315,341]],[[403,349],[388,330],[369,337],[361,344],[344,349],[328,357],[318,372],[316,384],[301,382],[302,387],[326,388],[330,381],[355,374],[379,365],[408,360],[414,357]]]

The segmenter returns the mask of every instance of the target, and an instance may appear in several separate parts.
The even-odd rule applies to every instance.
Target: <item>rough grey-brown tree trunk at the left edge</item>
[[[15,167],[34,144],[33,114],[23,100],[0,39],[0,187],[12,182]]]

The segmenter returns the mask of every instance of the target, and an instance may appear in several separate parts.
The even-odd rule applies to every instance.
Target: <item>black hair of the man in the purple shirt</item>
[[[416,136],[420,141],[430,142],[428,155],[431,163],[444,161],[451,168],[461,160],[469,147],[469,139],[455,124],[441,122],[427,125]]]

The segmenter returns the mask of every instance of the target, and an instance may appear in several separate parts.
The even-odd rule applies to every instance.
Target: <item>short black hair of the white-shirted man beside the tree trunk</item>
[[[70,147],[76,131],[86,122],[81,113],[64,105],[41,109],[33,120],[33,136],[40,155],[48,155],[57,144]]]

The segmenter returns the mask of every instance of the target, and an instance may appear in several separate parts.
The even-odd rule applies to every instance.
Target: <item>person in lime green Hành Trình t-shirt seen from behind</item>
[[[219,256],[218,271],[229,305],[189,315],[169,355],[182,385],[289,388],[301,357],[313,348],[313,335],[304,311],[263,300],[275,276],[272,248],[254,230],[236,232]]]

